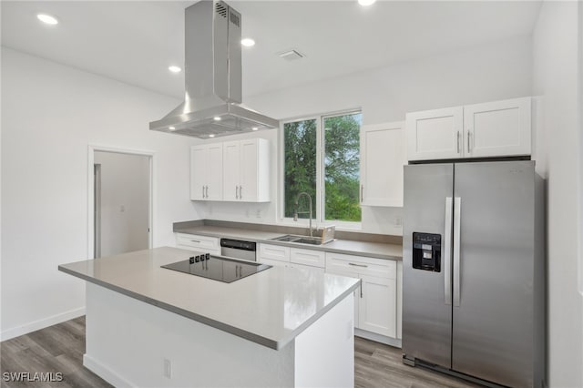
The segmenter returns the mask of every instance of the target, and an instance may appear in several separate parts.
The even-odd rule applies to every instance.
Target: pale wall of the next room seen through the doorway
[[[148,249],[149,158],[95,152],[101,165],[101,257]]]

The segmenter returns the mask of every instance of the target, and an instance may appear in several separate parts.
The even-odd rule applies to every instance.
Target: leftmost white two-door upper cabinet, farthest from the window
[[[222,199],[222,143],[190,148],[190,199]]]

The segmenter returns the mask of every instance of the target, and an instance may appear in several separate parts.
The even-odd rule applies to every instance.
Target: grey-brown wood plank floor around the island
[[[1,370],[5,372],[63,373],[62,382],[6,382],[11,387],[111,387],[83,366],[85,317],[56,324],[0,344]],[[357,388],[475,387],[440,373],[412,368],[401,362],[401,350],[355,337],[354,386]]]

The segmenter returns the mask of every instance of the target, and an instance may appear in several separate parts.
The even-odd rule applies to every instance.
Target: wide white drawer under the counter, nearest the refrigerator
[[[332,273],[358,272],[361,275],[396,279],[397,265],[394,260],[365,258],[342,253],[326,253],[326,271]]]

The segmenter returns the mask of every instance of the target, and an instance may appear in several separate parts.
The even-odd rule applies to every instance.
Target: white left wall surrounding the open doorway
[[[56,270],[87,258],[87,145],[156,152],[154,246],[195,220],[191,138],[148,130],[179,100],[2,48],[2,338],[83,312],[85,285]]]

